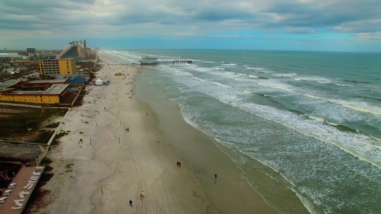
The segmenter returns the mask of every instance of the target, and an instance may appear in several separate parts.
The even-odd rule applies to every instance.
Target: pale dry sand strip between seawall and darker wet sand
[[[99,58],[111,62],[102,54]],[[98,75],[111,84],[87,86],[84,104],[67,115],[61,129],[71,132],[48,155],[54,176],[43,188],[51,191],[52,201],[33,213],[218,213],[208,207],[191,168],[176,166],[181,159],[166,143],[155,114],[132,95],[139,68],[106,65]]]

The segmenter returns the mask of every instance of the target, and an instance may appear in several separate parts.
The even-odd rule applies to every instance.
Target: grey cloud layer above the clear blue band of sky
[[[3,40],[18,30],[118,37],[239,30],[314,34],[318,28],[378,35],[381,29],[379,0],[2,0],[0,14],[0,29],[13,32],[0,35]]]

